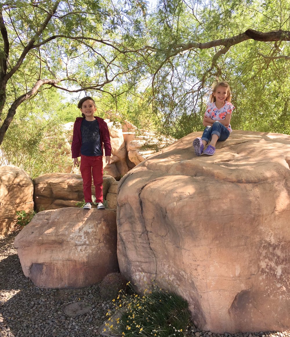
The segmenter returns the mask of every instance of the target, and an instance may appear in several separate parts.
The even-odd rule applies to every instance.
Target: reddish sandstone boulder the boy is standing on
[[[16,236],[25,276],[40,288],[79,288],[118,271],[116,213],[62,208],[43,211]]]

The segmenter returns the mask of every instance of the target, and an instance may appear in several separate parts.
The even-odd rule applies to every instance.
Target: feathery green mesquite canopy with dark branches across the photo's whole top
[[[240,107],[235,127],[287,126],[286,0],[164,0],[151,12],[144,0],[16,0],[0,9],[0,144],[17,107],[50,87],[136,95],[180,137],[201,126],[219,78]]]

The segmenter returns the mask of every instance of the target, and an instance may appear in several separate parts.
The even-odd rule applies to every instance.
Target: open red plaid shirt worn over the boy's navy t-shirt
[[[105,148],[105,156],[111,156],[111,142],[110,142],[110,133],[108,129],[107,123],[103,120],[103,118],[94,116],[99,123],[100,129],[100,141],[101,141],[101,149],[103,152],[103,143]],[[80,126],[81,122],[83,121],[84,117],[77,117],[74,126],[73,126],[73,140],[72,140],[72,158],[80,157],[80,148],[82,144],[81,140],[81,131]]]

